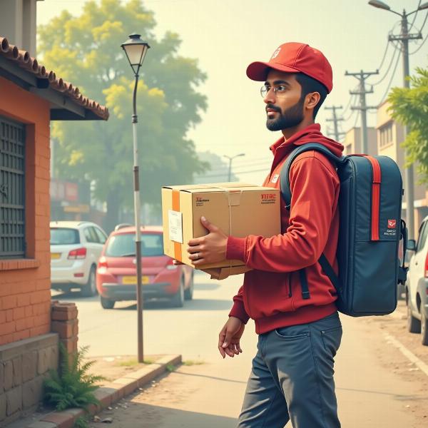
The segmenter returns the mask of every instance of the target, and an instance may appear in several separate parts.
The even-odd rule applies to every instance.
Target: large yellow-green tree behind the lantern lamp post
[[[160,205],[161,186],[190,183],[204,169],[188,129],[206,108],[198,86],[205,74],[193,58],[178,54],[180,39],[153,34],[156,21],[140,0],[88,1],[81,16],[63,11],[39,31],[39,53],[57,76],[78,84],[81,93],[109,108],[103,121],[55,123],[52,137],[56,175],[86,178],[106,202],[105,227],[117,223],[119,209],[132,206],[133,74],[120,47],[136,31],[151,46],[138,85],[138,142],[141,199]]]

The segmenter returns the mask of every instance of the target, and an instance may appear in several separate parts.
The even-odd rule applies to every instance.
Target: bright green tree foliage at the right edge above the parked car
[[[410,88],[392,88],[388,101],[392,118],[409,127],[403,143],[407,165],[417,162],[419,182],[428,183],[428,68],[417,68]]]

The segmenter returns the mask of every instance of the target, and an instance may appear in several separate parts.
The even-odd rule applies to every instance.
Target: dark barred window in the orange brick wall
[[[25,257],[25,126],[0,116],[0,259]]]

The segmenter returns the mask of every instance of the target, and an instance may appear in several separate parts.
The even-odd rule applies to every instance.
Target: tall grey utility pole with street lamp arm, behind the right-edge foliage
[[[424,4],[421,4],[416,10],[406,13],[406,10],[403,9],[402,14],[399,12],[393,11],[387,4],[379,0],[370,0],[370,6],[377,7],[378,9],[384,9],[385,11],[392,12],[401,17],[401,33],[398,36],[389,35],[389,41],[401,41],[402,42],[402,54],[403,54],[403,81],[404,88],[409,88],[409,81],[407,77],[409,76],[409,40],[422,39],[422,34],[409,34],[409,27],[407,17],[416,13],[417,11],[422,11],[428,9],[428,1]],[[407,126],[404,126],[404,138],[407,136],[408,129]],[[406,158],[406,151],[404,151],[404,158]],[[413,165],[409,165],[404,170],[404,193],[406,195],[406,223],[407,228],[409,229],[409,239],[414,239],[414,180],[413,180]]]

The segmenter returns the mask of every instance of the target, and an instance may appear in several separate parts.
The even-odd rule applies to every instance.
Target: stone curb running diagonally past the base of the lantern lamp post
[[[103,387],[99,387],[94,392],[94,395],[100,404],[91,405],[88,408],[89,414],[93,415],[101,412],[101,410],[106,409],[111,404],[165,373],[168,365],[180,365],[181,362],[181,355],[165,355],[148,367],[128,373],[126,377],[121,377],[105,384]],[[73,428],[76,419],[85,414],[86,412],[83,409],[67,409],[63,410],[63,412],[51,412],[44,416],[43,419],[32,422],[22,428]]]

